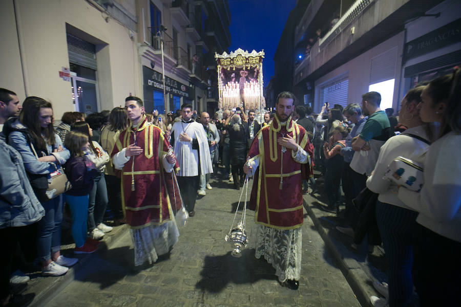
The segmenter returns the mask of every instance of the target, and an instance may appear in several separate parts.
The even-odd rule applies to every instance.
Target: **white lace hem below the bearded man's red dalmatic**
[[[276,270],[280,282],[300,279],[302,228],[279,230],[256,224],[252,236],[255,257],[264,256]]]

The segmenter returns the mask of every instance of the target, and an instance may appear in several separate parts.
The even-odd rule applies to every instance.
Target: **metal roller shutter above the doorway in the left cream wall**
[[[96,48],[92,43],[67,33],[69,62],[97,70]]]

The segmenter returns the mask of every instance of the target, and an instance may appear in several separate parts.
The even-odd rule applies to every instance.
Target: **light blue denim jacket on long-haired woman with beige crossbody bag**
[[[56,163],[38,161],[24,133],[17,131],[18,129],[27,129],[26,126],[24,126],[22,123],[16,120],[11,124],[11,127],[13,130],[8,134],[8,144],[13,146],[17,151],[19,151],[24,160],[24,167],[28,172],[33,174],[49,174],[56,170]],[[69,159],[70,157],[70,152],[68,149],[64,147],[64,145],[62,145],[61,138],[59,138],[57,134],[54,134],[54,139],[55,146],[58,147],[59,145],[61,145],[64,150],[59,152],[53,152],[52,146],[47,144],[48,152],[45,152],[45,155],[53,155],[54,157],[56,157],[56,160],[59,164],[64,165],[67,159]]]

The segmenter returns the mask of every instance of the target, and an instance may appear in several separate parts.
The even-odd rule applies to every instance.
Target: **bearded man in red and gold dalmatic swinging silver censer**
[[[302,180],[312,176],[306,130],[291,119],[295,99],[290,92],[279,94],[276,116],[253,140],[243,169],[255,176],[250,197],[256,210],[255,256],[264,256],[282,286],[294,290],[301,275]]]

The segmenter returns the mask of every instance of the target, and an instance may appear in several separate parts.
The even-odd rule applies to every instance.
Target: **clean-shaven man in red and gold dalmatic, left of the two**
[[[121,169],[122,207],[135,250],[135,266],[157,261],[177,242],[174,212],[181,208],[172,171],[176,157],[163,131],[146,120],[140,98],[125,99],[130,126],[120,133],[112,162]]]

